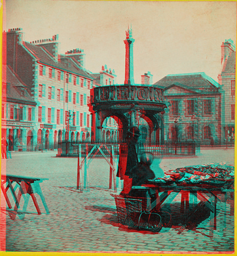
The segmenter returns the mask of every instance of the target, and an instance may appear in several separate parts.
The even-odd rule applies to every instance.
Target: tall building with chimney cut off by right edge
[[[221,130],[224,142],[234,141],[235,116],[235,74],[236,74],[236,48],[233,41],[228,39],[221,45],[221,74],[218,81],[221,85]]]

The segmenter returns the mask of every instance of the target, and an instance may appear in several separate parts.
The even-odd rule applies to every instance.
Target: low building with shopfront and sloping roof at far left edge
[[[2,71],[2,137],[7,139],[9,151],[33,150],[37,103],[10,66],[3,65]]]

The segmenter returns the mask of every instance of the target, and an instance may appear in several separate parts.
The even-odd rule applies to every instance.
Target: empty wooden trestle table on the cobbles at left
[[[5,200],[7,202],[7,205],[9,209],[12,209],[12,205],[9,200],[9,196],[7,195],[7,191],[10,188],[10,192],[12,194],[12,197],[14,199],[14,210],[10,212],[10,218],[12,220],[16,219],[16,214],[18,212],[18,208],[20,207],[20,199],[22,196],[24,197],[24,206],[22,209],[22,218],[24,218],[27,204],[29,202],[29,196],[31,196],[33,203],[35,205],[35,208],[37,210],[37,213],[40,215],[41,210],[39,209],[39,205],[37,203],[37,200],[35,198],[35,193],[39,194],[42,203],[45,207],[46,213],[49,214],[48,206],[45,202],[45,197],[43,196],[41,186],[39,183],[48,180],[45,178],[33,178],[33,177],[21,177],[16,175],[1,175],[1,190],[3,192],[3,196],[5,197]],[[13,183],[16,182],[15,186],[13,187]],[[33,186],[32,186],[33,185]],[[19,187],[18,190],[18,196],[16,196],[16,189]],[[9,210],[8,209],[8,210]],[[10,210],[9,210],[10,211]]]

